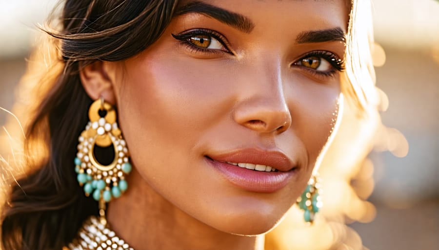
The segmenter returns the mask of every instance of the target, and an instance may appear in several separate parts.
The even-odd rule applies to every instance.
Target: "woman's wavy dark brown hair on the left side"
[[[98,214],[74,170],[92,103],[80,83],[80,67],[139,54],[160,37],[176,5],[177,0],[65,0],[60,29],[45,29],[58,40],[62,70],[40,94],[26,130],[25,153],[35,153],[34,143],[43,142],[47,157],[29,160],[32,172],[12,184],[1,216],[4,250],[59,250],[82,221]]]

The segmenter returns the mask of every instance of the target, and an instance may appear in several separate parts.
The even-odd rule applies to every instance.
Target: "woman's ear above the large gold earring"
[[[80,79],[85,92],[93,99],[103,97],[107,103],[116,104],[114,93],[115,67],[111,63],[96,61],[80,70]]]

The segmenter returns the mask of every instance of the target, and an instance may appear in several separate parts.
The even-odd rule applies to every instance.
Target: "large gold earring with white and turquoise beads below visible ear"
[[[79,137],[75,171],[86,196],[99,201],[100,220],[106,224],[106,202],[118,198],[128,188],[125,176],[131,172],[129,152],[116,122],[116,110],[103,98],[89,108],[90,121]],[[102,164],[95,157],[95,146],[110,149],[114,159]],[[113,149],[113,150],[111,150]]]

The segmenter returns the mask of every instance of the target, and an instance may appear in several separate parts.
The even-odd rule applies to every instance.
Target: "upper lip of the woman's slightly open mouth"
[[[215,161],[252,163],[266,165],[279,171],[289,171],[296,167],[285,154],[277,150],[264,150],[259,148],[244,148],[223,154],[207,155]]]

